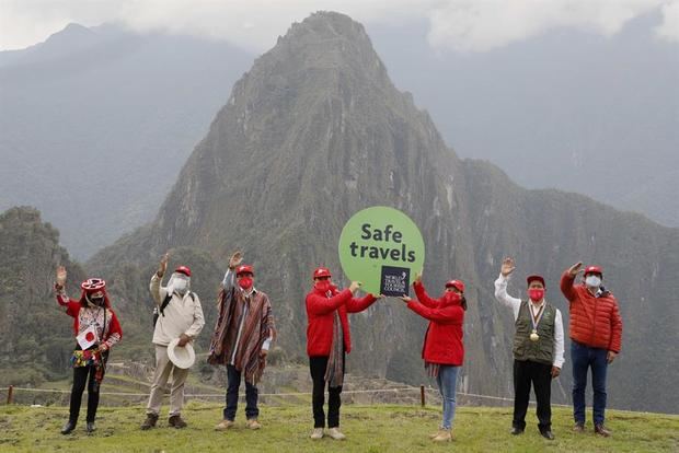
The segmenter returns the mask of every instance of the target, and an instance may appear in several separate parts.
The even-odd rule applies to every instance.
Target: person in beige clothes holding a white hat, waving
[[[181,413],[184,406],[184,384],[188,378],[188,368],[175,365],[169,352],[172,350],[172,341],[177,338],[176,347],[192,347],[191,342],[200,334],[205,325],[200,299],[198,294],[191,291],[188,267],[177,267],[170,277],[168,286],[161,286],[162,278],[168,270],[169,258],[169,254],[163,255],[149,283],[151,297],[159,309],[159,316],[152,339],[156,348],[156,372],[146,408],[146,420],[140,427],[142,430],[156,427],[170,374],[172,374],[172,388],[170,390],[168,426],[177,429],[186,428],[186,421]]]

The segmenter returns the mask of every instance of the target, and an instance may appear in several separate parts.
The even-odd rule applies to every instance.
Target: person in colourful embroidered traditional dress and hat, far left
[[[106,282],[100,278],[90,278],[80,284],[80,299],[69,299],[66,294],[66,268],[57,268],[55,292],[57,302],[66,314],[73,317],[76,334],[76,350],[71,358],[73,365],[73,386],[69,418],[62,434],[68,434],[78,425],[80,403],[85,384],[88,385],[88,423],[87,431],[93,432],[96,427],[96,408],[99,407],[99,390],[104,379],[108,351],[123,338],[123,330],[118,318],[111,310],[111,302],[106,294]],[[89,375],[89,381],[88,381]]]

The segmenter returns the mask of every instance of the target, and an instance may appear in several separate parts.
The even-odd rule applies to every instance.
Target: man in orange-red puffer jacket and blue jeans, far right
[[[569,302],[571,359],[573,360],[573,417],[576,432],[585,430],[585,390],[587,371],[591,368],[594,387],[592,417],[595,432],[609,437],[603,425],[606,414],[606,373],[620,353],[622,318],[618,300],[601,284],[603,270],[599,266],[582,269],[583,263],[568,268],[561,277],[561,291]],[[584,282],[574,284],[584,272]]]

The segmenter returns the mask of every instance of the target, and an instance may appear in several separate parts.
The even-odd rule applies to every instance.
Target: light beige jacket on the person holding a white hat
[[[168,294],[168,289],[161,287],[160,283],[161,278],[153,274],[149,288],[159,310]],[[193,299],[189,294],[193,294]],[[198,295],[195,292],[186,292],[182,298],[175,292],[172,294],[168,306],[165,306],[164,316],[162,314],[158,316],[156,330],[153,330],[153,344],[168,346],[170,341],[182,334],[188,335],[192,339],[196,338],[200,330],[203,330],[204,325],[203,306],[200,306]]]

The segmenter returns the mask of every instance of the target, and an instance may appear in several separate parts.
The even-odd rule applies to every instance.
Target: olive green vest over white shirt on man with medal
[[[554,362],[554,322],[556,309],[544,303],[544,313],[538,324],[538,341],[530,340],[533,325],[532,316],[528,307],[528,301],[521,301],[519,315],[516,318],[516,333],[514,334],[514,358],[516,360],[530,360],[533,362],[552,364]]]

